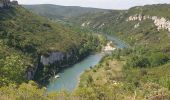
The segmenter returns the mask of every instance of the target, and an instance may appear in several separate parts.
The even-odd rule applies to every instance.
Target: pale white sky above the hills
[[[104,9],[128,9],[146,4],[170,4],[170,0],[17,0],[20,4],[55,4]]]

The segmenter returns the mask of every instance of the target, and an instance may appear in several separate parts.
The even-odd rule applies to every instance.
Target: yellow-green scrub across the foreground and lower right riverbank
[[[72,93],[66,91],[46,93],[34,82],[19,87],[0,88],[2,99],[92,99],[92,100],[169,100],[169,63],[154,68],[126,68],[124,51],[106,56],[94,68],[81,76],[79,87]],[[12,91],[12,92],[11,92]],[[15,92],[13,92],[15,91]]]

